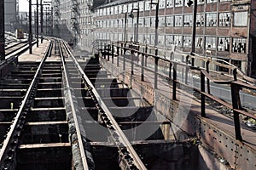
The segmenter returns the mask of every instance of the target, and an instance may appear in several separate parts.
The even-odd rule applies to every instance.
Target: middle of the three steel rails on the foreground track
[[[79,141],[79,150],[80,150],[80,154],[81,154],[82,164],[83,164],[84,170],[88,170],[89,167],[88,167],[88,163],[87,163],[87,159],[86,159],[86,154],[84,152],[84,144],[83,144],[82,136],[81,136],[80,129],[79,129],[79,122],[78,122],[78,118],[76,116],[75,106],[73,105],[74,102],[73,102],[73,97],[72,97],[71,90],[70,90],[70,84],[67,79],[67,69],[66,69],[65,60],[64,60],[65,56],[63,55],[62,50],[61,50],[61,43],[59,46],[59,50],[60,50],[60,54],[61,54],[61,63],[63,65],[63,67],[62,67],[63,74],[64,74],[64,77],[66,77],[65,80],[66,80],[68,98],[70,101],[71,111],[72,111],[72,115],[73,115],[73,121],[75,124],[77,137],[78,137],[78,141]]]

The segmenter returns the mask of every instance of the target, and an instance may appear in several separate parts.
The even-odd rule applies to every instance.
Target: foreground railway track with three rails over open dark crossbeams
[[[147,169],[152,157],[131,144],[164,140],[152,105],[65,42],[19,62],[0,88],[2,169]]]

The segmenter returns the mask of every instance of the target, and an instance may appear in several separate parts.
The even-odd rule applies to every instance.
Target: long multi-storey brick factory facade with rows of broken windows
[[[72,6],[74,1],[66,0],[66,2]],[[118,0],[92,7],[94,2],[77,0],[79,9],[76,15],[76,26],[79,31],[77,45],[89,50],[95,40],[113,42],[136,40],[144,44],[157,43],[157,46],[166,48],[174,44],[184,52],[189,52],[192,43],[193,7],[188,7],[188,2],[188,0],[158,2]],[[159,10],[156,10],[156,3],[159,3]],[[237,65],[241,71],[255,77],[256,2],[198,0],[197,3],[195,53],[206,54],[206,51],[210,50],[212,57]],[[67,8],[68,6],[65,11]],[[129,17],[131,10],[135,15],[134,18]],[[157,42],[155,42],[156,12],[158,13]],[[68,15],[66,17],[69,18],[71,16],[67,13],[62,14]],[[137,14],[139,14],[138,24]]]

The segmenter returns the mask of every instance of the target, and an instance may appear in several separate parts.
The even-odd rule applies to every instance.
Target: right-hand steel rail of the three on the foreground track
[[[65,44],[66,45],[66,44]],[[66,45],[67,48],[67,45]],[[79,72],[81,74],[81,76],[84,78],[85,82],[88,83],[88,86],[90,88],[90,90],[92,91],[92,93],[95,95],[96,100],[98,102],[98,104],[102,107],[102,111],[105,112],[105,114],[108,116],[109,121],[112,123],[113,128],[115,129],[116,133],[119,134],[119,141],[120,143],[124,144],[125,148],[129,151],[131,157],[133,158],[134,162],[135,162],[135,166],[138,169],[141,170],[145,170],[147,169],[145,167],[145,165],[143,164],[143,161],[141,160],[141,158],[137,155],[137,152],[134,150],[134,148],[132,147],[131,143],[129,142],[129,140],[126,138],[125,133],[123,133],[123,131],[121,130],[121,128],[119,127],[119,124],[115,121],[115,119],[113,118],[113,115],[111,114],[111,112],[108,110],[108,107],[105,105],[105,103],[103,102],[102,98],[100,97],[100,95],[97,93],[96,88],[94,88],[93,84],[90,82],[89,78],[85,75],[84,70],[81,68],[81,66],[79,65],[79,62],[77,61],[77,59],[75,59],[75,57],[73,56],[73,54],[71,53],[70,49],[67,48],[68,53],[70,54],[70,56],[72,57],[73,61],[75,62],[77,68],[79,69]]]

